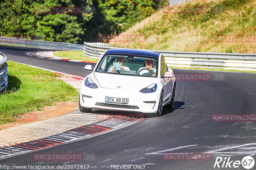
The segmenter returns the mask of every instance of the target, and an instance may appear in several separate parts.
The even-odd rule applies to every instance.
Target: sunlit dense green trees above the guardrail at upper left
[[[79,14],[38,11],[78,5],[86,11]],[[84,23],[92,18],[91,5],[92,0],[3,0],[0,4],[0,34],[32,35],[33,39],[77,43],[83,41]]]

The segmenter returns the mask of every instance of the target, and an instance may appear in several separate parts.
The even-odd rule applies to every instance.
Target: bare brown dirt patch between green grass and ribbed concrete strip
[[[57,102],[56,105],[46,107],[42,111],[33,111],[22,115],[16,122],[6,123],[0,125],[0,130],[38,122],[41,120],[47,120],[61,115],[66,115],[78,108],[78,102]]]

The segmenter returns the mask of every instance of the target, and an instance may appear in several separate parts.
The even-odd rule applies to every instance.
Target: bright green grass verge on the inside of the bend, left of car
[[[61,75],[8,61],[8,87],[0,92],[0,124],[54,102],[77,101],[78,92]]]

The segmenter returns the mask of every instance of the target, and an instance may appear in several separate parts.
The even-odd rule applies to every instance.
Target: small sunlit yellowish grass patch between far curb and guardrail
[[[95,63],[98,62],[98,59],[85,57],[83,54],[83,51],[60,51],[60,52],[53,53],[53,55],[58,57],[65,57],[72,60],[84,60],[84,61],[95,62]]]

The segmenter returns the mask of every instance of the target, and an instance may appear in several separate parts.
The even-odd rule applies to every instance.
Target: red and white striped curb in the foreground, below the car
[[[80,126],[75,129],[57,133],[55,135],[39,138],[30,142],[20,143],[17,145],[6,146],[0,148],[0,159],[4,159],[7,156],[20,154],[24,152],[39,150],[54,145],[60,145],[77,139],[85,138],[100,132],[108,131],[125,124],[129,124],[137,118],[126,116],[111,116],[107,119],[95,122],[92,124]]]

